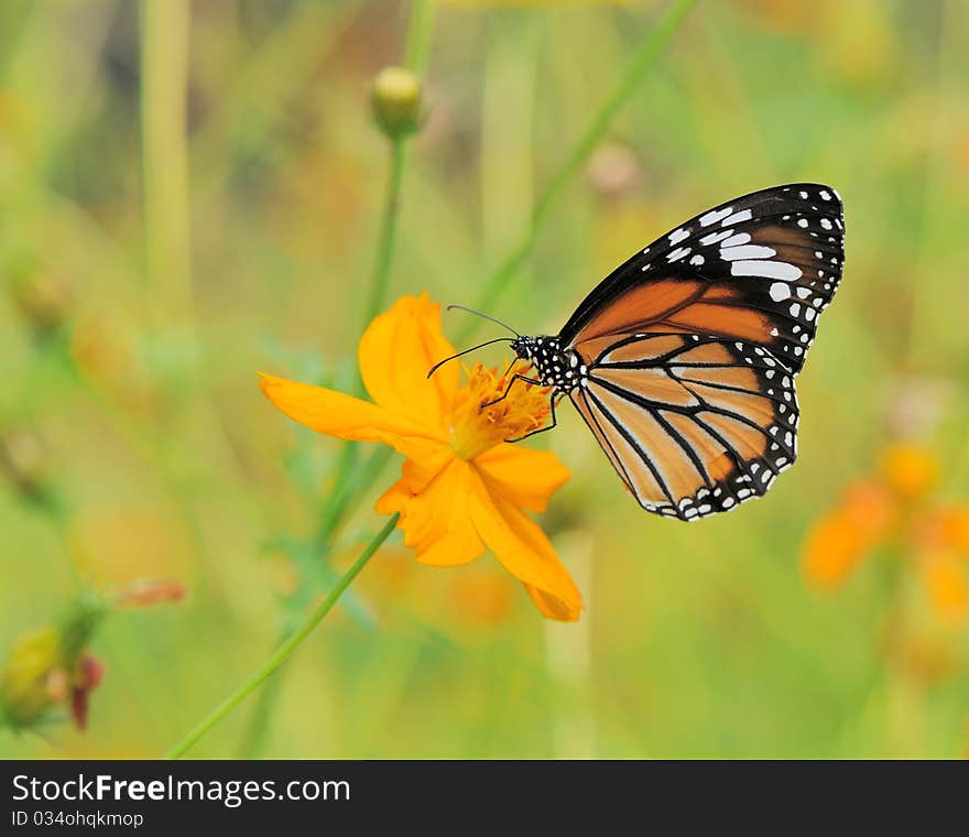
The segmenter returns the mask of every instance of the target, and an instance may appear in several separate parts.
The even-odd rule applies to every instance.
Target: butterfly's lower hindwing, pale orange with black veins
[[[696,520],[794,463],[793,377],[755,344],[652,334],[607,349],[569,396],[646,511]]]

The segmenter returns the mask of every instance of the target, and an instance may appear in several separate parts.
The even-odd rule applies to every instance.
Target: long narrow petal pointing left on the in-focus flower
[[[443,438],[428,428],[375,404],[323,387],[287,381],[271,374],[260,380],[265,396],[293,421],[317,433],[357,442],[383,442],[425,470],[442,468],[453,458]]]

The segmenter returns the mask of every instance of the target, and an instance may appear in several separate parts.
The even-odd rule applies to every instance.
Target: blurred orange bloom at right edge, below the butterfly
[[[814,525],[802,555],[807,579],[841,584],[882,543],[911,555],[938,618],[952,626],[969,617],[969,503],[933,498],[938,460],[913,443],[889,445],[878,474],[856,480]]]

